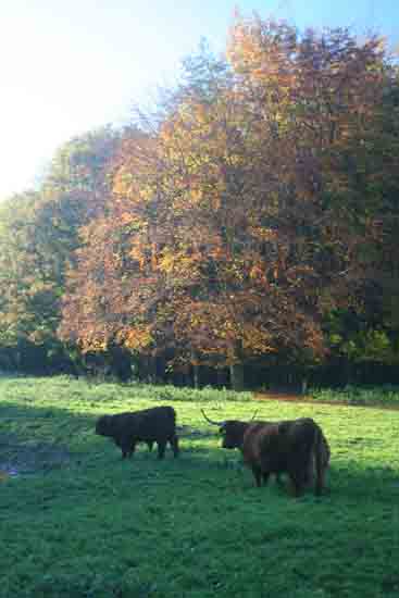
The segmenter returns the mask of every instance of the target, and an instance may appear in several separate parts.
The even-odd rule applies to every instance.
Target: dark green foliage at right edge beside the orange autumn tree
[[[364,276],[350,304],[331,313],[325,325],[331,357],[345,365],[349,381],[358,372],[366,372],[367,379],[371,373],[394,379],[399,363],[399,78],[395,65],[386,74],[373,128],[359,152],[362,176],[356,180],[358,197],[366,200],[366,212],[358,217],[364,225],[374,221],[374,236],[362,247]],[[350,166],[353,171],[353,162]]]

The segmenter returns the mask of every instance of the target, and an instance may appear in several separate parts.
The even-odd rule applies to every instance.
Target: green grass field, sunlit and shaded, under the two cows
[[[160,403],[184,426],[178,459],[142,446],[122,461],[93,434],[102,413]],[[332,447],[328,493],[254,488],[201,408],[314,418]],[[0,596],[397,598],[398,448],[399,411],[1,378]]]

